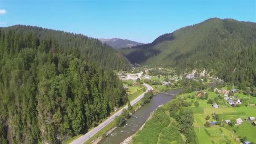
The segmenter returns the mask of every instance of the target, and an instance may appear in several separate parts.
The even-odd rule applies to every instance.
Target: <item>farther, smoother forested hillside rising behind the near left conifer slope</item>
[[[13,31],[18,33],[18,35],[35,34],[40,42],[51,43],[48,45],[51,47],[49,51],[56,51],[54,47],[58,47],[61,53],[75,53],[78,58],[97,62],[97,64],[107,69],[126,70],[131,67],[130,62],[113,48],[85,35],[24,25],[15,25],[1,29],[7,35]],[[15,41],[14,37],[11,40]]]

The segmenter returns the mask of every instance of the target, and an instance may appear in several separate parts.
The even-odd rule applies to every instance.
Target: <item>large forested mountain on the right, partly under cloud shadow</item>
[[[219,77],[240,88],[256,85],[256,23],[212,18],[124,48],[132,63]]]

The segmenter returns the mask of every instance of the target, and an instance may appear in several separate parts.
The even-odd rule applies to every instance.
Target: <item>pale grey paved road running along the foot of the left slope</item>
[[[153,88],[150,85],[147,85],[144,83],[144,86],[147,87],[147,91],[145,91],[144,93],[142,93],[140,96],[138,96],[136,99],[134,99],[133,101],[131,101],[131,105],[135,104],[136,102],[138,102],[140,99],[143,98],[144,94],[147,93],[149,90],[152,90]],[[124,108],[120,109],[118,112],[116,112],[114,115],[112,115],[111,117],[109,117],[107,120],[105,120],[104,122],[102,122],[100,125],[98,125],[96,128],[93,128],[91,131],[89,131],[88,133],[86,133],[85,135],[81,136],[80,138],[76,139],[75,141],[72,141],[71,144],[83,144],[85,141],[88,141],[88,139],[90,139],[92,136],[94,136],[96,133],[98,133],[102,128],[104,128],[105,126],[107,126],[110,122],[112,122],[116,116],[121,115],[123,109],[127,109],[127,106],[125,106]]]

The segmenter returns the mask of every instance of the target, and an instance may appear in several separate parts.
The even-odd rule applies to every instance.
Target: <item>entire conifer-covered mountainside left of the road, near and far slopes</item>
[[[83,35],[1,28],[0,143],[7,143],[7,127],[13,144],[56,144],[85,133],[126,103],[122,81],[107,70],[125,64],[112,48]]]

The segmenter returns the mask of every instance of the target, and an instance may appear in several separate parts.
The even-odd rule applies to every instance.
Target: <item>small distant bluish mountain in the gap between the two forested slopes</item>
[[[120,39],[120,38],[112,38],[112,39],[100,38],[99,40],[102,43],[106,43],[107,45],[110,45],[115,49],[117,49],[117,48],[131,48],[133,46],[143,44],[143,43],[138,43],[138,42],[131,41],[131,40],[126,40],[126,39],[123,40],[123,39]]]

